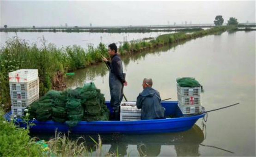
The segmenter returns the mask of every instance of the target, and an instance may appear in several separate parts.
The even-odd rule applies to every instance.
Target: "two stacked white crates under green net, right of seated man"
[[[201,87],[180,87],[177,84],[178,106],[184,115],[200,113],[201,106]]]

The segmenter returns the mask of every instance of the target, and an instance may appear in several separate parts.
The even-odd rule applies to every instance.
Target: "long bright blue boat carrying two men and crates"
[[[31,121],[35,124],[30,126],[33,133],[54,133],[56,130],[60,132],[86,133],[86,134],[108,134],[108,133],[126,133],[126,134],[150,134],[150,133],[170,133],[186,131],[193,127],[198,119],[204,117],[205,113],[196,115],[183,116],[178,108],[177,101],[165,101],[161,103],[165,108],[165,116],[175,117],[156,120],[136,120],[136,121],[81,121],[77,126],[70,128],[65,123],[54,122],[52,120],[39,122]],[[112,111],[109,102],[106,102],[109,110]],[[6,114],[6,119],[10,119],[11,113]],[[17,119],[20,127],[26,127],[21,119]]]

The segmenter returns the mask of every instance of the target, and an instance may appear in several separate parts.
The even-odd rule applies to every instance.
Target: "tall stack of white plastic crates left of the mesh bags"
[[[23,115],[24,109],[39,99],[39,78],[37,69],[20,69],[9,73],[11,111]]]

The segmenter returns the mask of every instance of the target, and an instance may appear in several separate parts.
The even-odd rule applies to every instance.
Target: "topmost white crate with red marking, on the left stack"
[[[19,69],[9,73],[9,82],[30,82],[37,79],[37,69]]]

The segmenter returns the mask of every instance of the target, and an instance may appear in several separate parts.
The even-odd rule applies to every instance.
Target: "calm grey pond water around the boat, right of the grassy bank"
[[[161,99],[172,100],[177,100],[176,78],[195,77],[204,88],[201,97],[206,110],[240,104],[208,113],[206,123],[200,119],[192,130],[181,133],[122,135],[118,140],[111,135],[102,137],[106,153],[118,146],[126,156],[138,156],[141,149],[148,156],[256,155],[254,31],[209,35],[122,57],[122,61],[128,82],[124,94],[130,101],[142,91],[145,77],[153,79]],[[108,69],[103,63],[75,71],[68,87],[90,81],[110,100]]]

